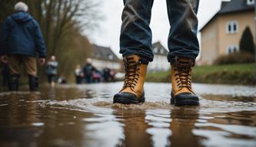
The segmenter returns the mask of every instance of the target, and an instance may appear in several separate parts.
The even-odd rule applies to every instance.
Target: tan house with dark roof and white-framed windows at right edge
[[[201,28],[201,64],[212,64],[225,54],[239,51],[246,27],[254,34],[254,0],[221,2],[221,10]]]

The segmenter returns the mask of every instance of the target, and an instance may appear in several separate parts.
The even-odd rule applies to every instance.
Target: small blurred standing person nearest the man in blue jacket
[[[58,68],[58,62],[56,61],[56,57],[52,56],[46,64],[46,74],[48,77],[48,83],[50,83],[52,87],[55,86],[57,68]]]

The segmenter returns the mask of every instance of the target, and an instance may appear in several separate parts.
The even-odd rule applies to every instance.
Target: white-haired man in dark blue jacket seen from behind
[[[23,2],[15,5],[15,14],[6,18],[3,29],[4,47],[1,49],[1,60],[8,58],[11,79],[9,89],[18,90],[20,65],[25,65],[28,73],[30,90],[38,90],[36,55],[39,64],[45,64],[45,41],[38,22],[28,14],[28,6]]]

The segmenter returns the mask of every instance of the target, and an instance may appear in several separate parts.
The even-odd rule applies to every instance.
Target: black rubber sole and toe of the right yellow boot
[[[173,93],[171,93],[171,105],[175,106],[199,106],[199,100],[197,99],[176,99]]]

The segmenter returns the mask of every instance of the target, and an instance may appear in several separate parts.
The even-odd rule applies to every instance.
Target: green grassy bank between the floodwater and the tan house
[[[148,82],[171,82],[170,71],[148,73]],[[194,67],[192,80],[196,83],[253,84],[254,64],[212,65]]]

